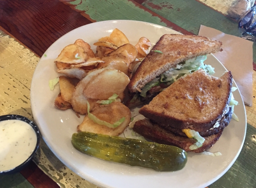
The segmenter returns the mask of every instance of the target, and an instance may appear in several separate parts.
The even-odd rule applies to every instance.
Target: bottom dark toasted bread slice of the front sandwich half
[[[172,145],[180,147],[185,151],[193,151],[196,153],[201,153],[212,147],[214,143],[218,141],[223,131],[222,129],[218,132],[218,134],[204,137],[206,140],[204,141],[202,146],[195,150],[191,150],[189,149],[189,147],[197,142],[196,139],[189,139],[188,137],[175,135],[172,132],[163,129],[162,127],[159,127],[157,124],[152,123],[149,119],[137,121],[134,124],[133,130],[156,143]]]

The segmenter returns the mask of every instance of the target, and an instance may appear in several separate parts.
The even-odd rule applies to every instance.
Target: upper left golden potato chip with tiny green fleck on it
[[[84,53],[84,48],[72,44],[67,45],[55,59],[54,62],[62,62],[67,64],[83,63],[88,58]]]

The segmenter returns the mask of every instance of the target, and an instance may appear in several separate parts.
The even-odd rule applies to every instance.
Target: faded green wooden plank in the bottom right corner
[[[209,188],[256,188],[256,128],[247,123],[240,155],[233,166]]]

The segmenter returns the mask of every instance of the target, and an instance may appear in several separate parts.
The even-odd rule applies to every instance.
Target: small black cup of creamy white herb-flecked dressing
[[[20,124],[15,124],[15,125],[13,125],[13,127],[11,127],[11,124],[9,124],[8,125],[8,127],[5,127],[4,128],[4,123],[3,123],[3,121],[8,121],[8,120],[11,120],[10,122],[8,122],[8,123],[12,123],[12,122],[14,122],[13,120],[21,120],[22,121],[22,123],[20,123]],[[17,121],[16,121],[17,122]],[[19,121],[18,121],[19,122]],[[25,123],[24,123],[25,122]],[[12,115],[2,115],[2,116],[0,116],[0,131],[3,131],[2,133],[0,132],[0,135],[1,134],[4,134],[5,132],[5,129],[8,131],[8,129],[10,130],[10,129],[13,129],[15,126],[17,127],[17,125],[19,125],[19,126],[21,126],[21,129],[19,129],[19,131],[20,132],[18,132],[17,133],[17,137],[18,136],[21,136],[22,135],[22,133],[26,133],[26,134],[30,134],[29,136],[31,136],[30,138],[33,140],[34,139],[34,141],[32,141],[33,143],[33,145],[31,145],[30,146],[30,141],[29,141],[29,143],[28,144],[26,144],[25,145],[25,143],[27,142],[27,140],[24,140],[24,142],[22,143],[21,142],[21,139],[22,138],[17,138],[17,141],[15,140],[15,138],[13,138],[13,136],[14,135],[12,135],[11,134],[11,137],[10,137],[10,139],[13,139],[14,140],[14,142],[16,141],[16,143],[14,143],[14,145],[13,146],[11,146],[12,148],[13,148],[13,150],[12,151],[14,151],[15,149],[14,148],[19,148],[19,147],[21,147],[21,146],[23,146],[23,147],[27,147],[27,148],[29,148],[29,154],[30,154],[30,152],[32,151],[32,153],[28,156],[28,158],[27,157],[24,157],[23,159],[21,159],[21,161],[20,161],[20,163],[19,164],[17,164],[17,166],[15,165],[15,166],[13,166],[13,167],[11,167],[10,169],[6,169],[6,168],[1,168],[0,167],[0,174],[13,174],[13,173],[16,173],[16,172],[20,172],[23,168],[25,168],[28,164],[29,164],[29,162],[32,160],[32,158],[34,157],[34,155],[35,155],[35,152],[37,151],[37,149],[38,149],[38,147],[39,147],[39,142],[40,142],[40,133],[39,133],[39,130],[38,130],[38,127],[36,126],[36,124],[32,121],[32,120],[30,120],[30,119],[28,119],[28,118],[26,118],[26,117],[24,117],[24,116],[21,116],[21,115],[15,115],[15,114],[12,114]],[[1,127],[2,126],[2,127]],[[33,130],[34,130],[34,132],[35,132],[35,135],[33,134],[33,130],[31,130],[31,128],[29,127],[29,126],[31,126],[32,128],[33,128]],[[1,130],[1,128],[4,128],[4,129],[2,129]],[[19,127],[18,127],[19,128]],[[26,129],[25,129],[26,128]],[[24,132],[22,132],[22,130],[24,131]],[[13,131],[13,130],[10,130],[10,131]],[[13,133],[13,132],[12,132]],[[25,139],[25,138],[28,138],[27,137],[28,135],[25,135],[25,136],[23,136],[23,138]],[[8,140],[8,139],[7,139]],[[19,143],[20,142],[20,143]],[[2,145],[3,143],[0,143],[0,145]],[[11,145],[11,144],[10,144]],[[10,146],[9,145],[9,146]],[[35,145],[35,146],[34,146]],[[2,145],[2,146],[6,146],[6,144],[5,145]],[[34,148],[34,150],[32,150]],[[7,147],[5,147],[5,151],[11,151],[9,148],[7,148]],[[0,149],[0,151],[1,151],[1,149]],[[3,152],[4,152],[4,149],[2,150]],[[21,149],[21,151],[25,151],[25,149]],[[18,152],[18,150],[15,150],[15,152]],[[25,153],[24,153],[24,155],[25,155]],[[6,154],[6,156],[7,156],[7,154]],[[15,156],[15,155],[14,155]],[[21,155],[20,155],[21,156]],[[16,156],[15,156],[16,157]],[[16,160],[14,160],[13,158],[15,158],[15,157],[13,157],[13,155],[12,156],[10,156],[10,160],[9,159],[7,159],[7,161],[6,162],[2,162],[2,164],[7,164],[8,162],[13,162],[13,161],[17,161],[17,159]],[[12,158],[12,159],[11,159]],[[19,159],[20,159],[20,157],[18,157]],[[0,157],[0,165],[1,165],[1,160],[4,160],[3,158],[1,158]],[[13,161],[12,161],[13,160]]]

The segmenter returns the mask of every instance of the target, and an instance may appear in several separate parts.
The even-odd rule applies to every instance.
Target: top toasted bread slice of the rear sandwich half
[[[220,41],[195,35],[165,34],[138,66],[128,88],[131,93],[140,92],[148,82],[180,62],[218,51],[222,51]]]

